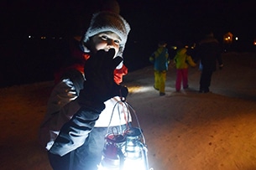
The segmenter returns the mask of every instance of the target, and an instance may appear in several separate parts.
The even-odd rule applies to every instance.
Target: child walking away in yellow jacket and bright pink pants
[[[196,63],[191,58],[191,55],[188,55],[185,47],[180,43],[178,44],[178,49],[175,54],[174,62],[176,68],[176,82],[175,89],[176,91],[180,91],[181,83],[183,85],[183,89],[187,89],[188,85],[188,67],[191,65],[192,67],[196,66]]]

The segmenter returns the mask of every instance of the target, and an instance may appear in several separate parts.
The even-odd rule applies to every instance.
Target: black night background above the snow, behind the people
[[[86,31],[104,0],[5,0],[0,2],[0,86],[52,79],[56,55],[68,38]],[[242,50],[256,38],[255,0],[118,0],[132,30],[124,51],[130,70],[149,64],[159,40],[168,47],[181,40],[196,43],[211,29],[238,36]],[[34,39],[28,39],[29,35]],[[45,36],[47,39],[40,39]],[[49,40],[48,38],[56,39]],[[138,65],[136,65],[138,64]],[[14,75],[14,76],[13,76]]]

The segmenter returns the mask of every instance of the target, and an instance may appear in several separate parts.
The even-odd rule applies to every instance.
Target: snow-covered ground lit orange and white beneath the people
[[[256,54],[223,54],[212,93],[197,93],[200,72],[189,70],[189,90],[175,92],[170,67],[166,95],[154,90],[153,67],[129,73],[133,106],[154,170],[256,169]],[[51,169],[37,142],[53,81],[0,89],[1,169]],[[136,126],[136,123],[134,123]]]

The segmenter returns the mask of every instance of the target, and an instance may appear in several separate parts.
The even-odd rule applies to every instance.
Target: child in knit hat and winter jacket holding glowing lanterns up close
[[[93,14],[81,40],[73,39],[71,65],[55,74],[40,126],[39,139],[53,169],[97,170],[107,127],[128,128],[127,111],[112,111],[128,95],[120,83],[128,73],[122,56],[129,31],[126,20],[107,9]]]

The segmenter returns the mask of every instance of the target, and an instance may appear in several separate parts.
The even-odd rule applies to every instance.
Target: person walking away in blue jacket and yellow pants
[[[149,57],[154,64],[154,89],[159,90],[159,95],[165,95],[165,81],[170,58],[164,41],[159,42],[158,49]]]

